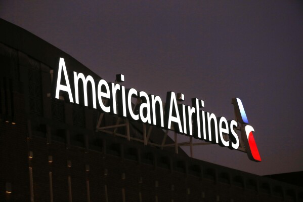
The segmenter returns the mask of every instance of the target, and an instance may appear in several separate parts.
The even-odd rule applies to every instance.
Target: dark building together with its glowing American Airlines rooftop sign
[[[239,100],[234,122],[199,111],[198,99],[182,105],[183,94],[167,93],[162,105],[124,88],[121,74],[102,82],[30,32],[2,19],[0,28],[0,201],[303,201],[302,187],[194,159],[179,147],[192,141],[167,136],[260,161],[241,147],[253,129]],[[240,126],[246,141],[234,133]]]

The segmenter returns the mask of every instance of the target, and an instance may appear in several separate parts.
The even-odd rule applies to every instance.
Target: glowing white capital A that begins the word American
[[[62,69],[63,69],[63,74],[64,74],[66,86],[60,84],[61,83]],[[65,67],[65,62],[64,62],[63,58],[60,58],[60,60],[59,60],[58,78],[57,78],[55,98],[59,99],[59,92],[60,91],[68,92],[69,101],[74,102],[73,97],[72,97],[72,93],[71,93],[71,89],[70,89],[70,85],[69,85],[69,80],[68,80],[68,75],[67,75],[67,71],[66,71],[66,67]]]

